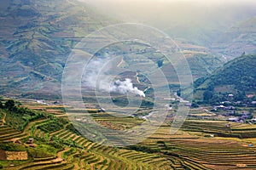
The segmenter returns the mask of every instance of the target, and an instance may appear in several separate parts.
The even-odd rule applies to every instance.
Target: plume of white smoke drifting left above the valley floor
[[[113,59],[108,54],[104,54],[102,58],[90,60],[84,70],[83,86],[98,88],[108,93],[137,94],[145,97],[144,92],[135,87],[131,79],[125,78],[125,81],[113,81],[113,76],[109,73],[113,73],[113,70]]]

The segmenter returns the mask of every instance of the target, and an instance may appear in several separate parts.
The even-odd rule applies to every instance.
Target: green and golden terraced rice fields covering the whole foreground
[[[256,125],[232,122],[227,128],[224,121],[190,119],[171,135],[172,116],[168,116],[142,143],[110,147],[85,139],[68,120],[63,105],[3,99],[0,107],[0,167],[7,170],[256,169]],[[96,122],[113,129],[144,121],[88,111]]]

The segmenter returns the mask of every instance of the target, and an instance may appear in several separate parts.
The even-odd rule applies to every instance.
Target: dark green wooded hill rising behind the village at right
[[[214,71],[205,80],[195,82],[196,94],[210,91],[214,94],[256,94],[256,55],[242,55]],[[200,98],[199,98],[200,99]],[[202,96],[201,96],[202,99]]]

